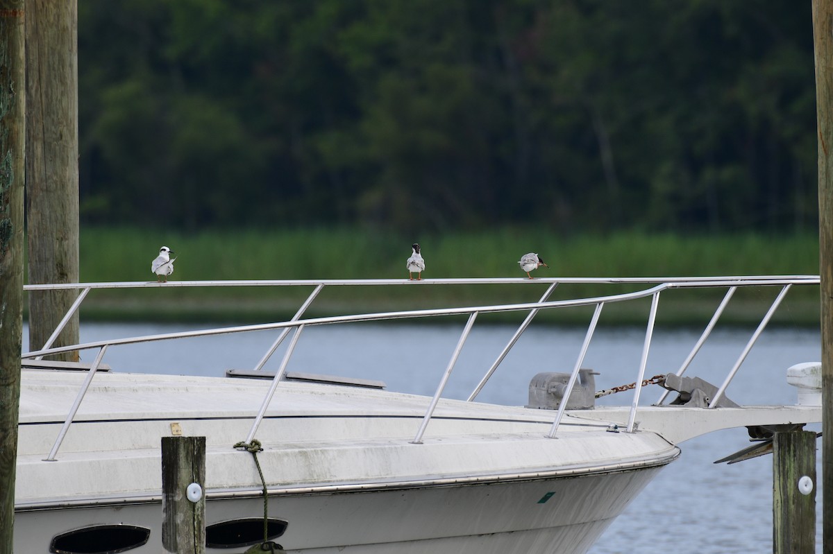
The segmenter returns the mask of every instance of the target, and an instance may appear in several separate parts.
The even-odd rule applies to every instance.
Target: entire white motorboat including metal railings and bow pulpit
[[[549,300],[558,284],[571,283],[628,284],[634,291]],[[402,284],[549,286],[539,301],[526,304],[304,316],[326,286]],[[43,349],[24,353],[15,552],[165,552],[160,442],[172,435],[206,438],[206,552],[244,552],[264,541],[264,526],[268,540],[304,554],[586,552],[657,472],[680,455],[678,445],[687,439],[722,428],[821,421],[812,383],[802,388],[803,401],[791,406],[741,407],[726,398],[726,388],[791,287],[818,284],[817,276],[764,276],[27,285],[30,294],[79,290],[62,324],[93,289],[314,290],[287,321],[52,348],[59,325]],[[726,360],[724,383],[709,388],[686,381],[683,373],[732,294],[746,287],[776,288],[780,294],[740,358]],[[582,364],[604,306],[651,299],[641,364],[633,376],[641,383],[660,295],[716,288],[726,289],[726,296],[697,343],[681,345],[684,361],[666,377],[666,385],[681,392],[676,402],[667,402],[671,394],[647,405],[636,386],[624,407],[594,405],[593,373],[582,371]],[[476,402],[540,310],[580,305],[595,310],[571,373],[536,375],[527,406]],[[442,398],[477,315],[507,311],[527,316],[495,363],[483,368],[481,383],[466,401]],[[468,321],[433,397],[391,392],[364,379],[287,372],[306,327],[453,314],[467,315]],[[107,349],[125,344],[267,329],[274,330],[276,340],[250,371],[187,377],[107,368]],[[290,336],[280,368],[264,372],[267,359]],[[86,366],[42,359],[67,350],[91,351],[96,358]],[[147,360],[150,369],[159,363]],[[252,453],[235,448],[256,440],[262,446],[257,462],[263,479]]]

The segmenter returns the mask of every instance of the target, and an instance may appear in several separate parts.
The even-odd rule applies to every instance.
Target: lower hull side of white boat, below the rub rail
[[[277,495],[269,499],[269,516],[289,522],[287,532],[276,539],[287,552],[586,552],[660,468],[527,482]],[[551,492],[549,500],[539,503]],[[262,512],[260,497],[209,500],[207,525],[262,517]],[[14,552],[49,552],[48,530],[113,522],[152,529],[147,544],[130,552],[164,552],[161,502],[18,512]]]

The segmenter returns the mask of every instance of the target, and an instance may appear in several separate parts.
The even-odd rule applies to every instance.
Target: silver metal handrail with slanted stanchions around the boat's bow
[[[296,329],[294,336],[292,337],[291,344],[287,349],[287,353],[284,355],[282,360],[281,368],[276,373],[275,377],[272,379],[272,385],[269,388],[266,398],[264,398],[262,402],[262,406],[255,418],[255,421],[252,425],[252,429],[249,433],[247,438],[247,442],[250,443],[254,438],[254,434],[257,432],[257,427],[260,424],[269,403],[272,400],[272,396],[275,393],[275,390],[278,386],[279,381],[282,378],[282,375],[285,373],[287,368],[287,364],[289,362],[290,357],[292,356],[292,352],[297,344],[297,340],[301,334],[301,331],[306,326],[311,325],[325,325],[325,324],[342,324],[342,323],[354,323],[354,322],[361,322],[361,321],[379,321],[379,320],[389,320],[389,319],[414,319],[414,318],[427,318],[427,317],[442,317],[442,316],[449,316],[449,315],[463,315],[466,314],[469,316],[469,320],[466,324],[466,328],[463,330],[463,334],[461,335],[461,339],[458,342],[454,353],[451,355],[451,360],[446,368],[446,372],[443,373],[441,378],[441,383],[439,384],[434,397],[431,399],[431,403],[426,411],[425,417],[422,419],[421,427],[419,431],[416,433],[416,437],[412,441],[413,443],[421,443],[421,438],[423,433],[426,430],[428,423],[431,420],[432,413],[434,408],[436,408],[436,403],[438,402],[439,398],[441,398],[441,393],[443,388],[445,387],[446,381],[451,374],[451,370],[454,368],[456,364],[456,359],[459,356],[463,344],[466,341],[466,337],[468,336],[469,332],[471,331],[471,327],[474,324],[477,314],[481,313],[501,313],[501,312],[511,312],[511,311],[527,311],[526,319],[519,329],[516,330],[515,335],[510,340],[509,344],[506,345],[506,348],[501,355],[496,359],[496,362],[492,364],[489,371],[486,373],[486,376],[481,379],[481,383],[478,384],[477,388],[471,396],[468,398],[469,401],[475,398],[476,394],[480,392],[483,385],[486,383],[488,378],[491,377],[491,374],[494,373],[497,366],[501,363],[502,359],[506,356],[506,353],[511,349],[511,347],[515,344],[516,340],[520,337],[521,333],[526,326],[530,324],[531,319],[535,316],[535,314],[540,309],[557,309],[557,308],[566,308],[566,307],[576,307],[576,306],[590,306],[595,305],[596,311],[593,314],[593,318],[591,320],[591,324],[588,327],[588,331],[586,334],[585,342],[581,348],[581,354],[579,355],[579,359],[576,362],[576,366],[571,373],[571,378],[569,383],[567,383],[566,393],[564,395],[564,400],[561,402],[561,406],[556,413],[556,418],[552,423],[552,427],[550,433],[547,433],[547,437],[555,438],[556,430],[558,428],[559,423],[561,422],[561,418],[563,416],[564,410],[566,409],[566,399],[569,398],[571,393],[571,389],[576,382],[576,377],[578,374],[579,369],[581,368],[581,364],[583,359],[586,355],[587,348],[590,344],[591,337],[593,335],[594,330],[596,329],[596,324],[598,322],[599,316],[601,314],[602,307],[607,303],[618,303],[618,302],[625,302],[634,299],[641,299],[646,297],[651,297],[651,313],[649,314],[648,319],[648,327],[646,329],[646,340],[642,351],[642,358],[639,368],[639,378],[637,382],[641,382],[642,378],[644,377],[645,369],[646,369],[646,361],[648,357],[648,352],[650,349],[651,344],[651,334],[653,332],[654,323],[656,320],[656,311],[657,305],[659,300],[659,295],[663,290],[667,289],[697,289],[697,288],[721,288],[727,287],[730,289],[729,293],[726,294],[723,302],[716,310],[714,316],[706,327],[706,330],[701,335],[701,339],[698,340],[695,348],[692,349],[691,354],[689,354],[686,362],[681,366],[681,369],[678,370],[678,374],[681,374],[686,370],[688,364],[691,363],[691,359],[694,358],[697,351],[699,351],[703,342],[705,342],[706,338],[711,333],[711,329],[716,324],[717,319],[719,318],[720,314],[722,313],[723,309],[726,308],[726,304],[728,303],[729,299],[731,298],[731,294],[734,293],[735,289],[738,287],[746,287],[746,286],[781,286],[781,293],[778,295],[776,301],[771,305],[771,308],[767,312],[764,319],[759,324],[758,328],[756,329],[755,334],[753,334],[752,338],[750,339],[749,343],[746,345],[746,349],[744,349],[743,354],[741,354],[741,358],[737,360],[735,366],[731,369],[729,376],[726,378],[726,382],[723,383],[721,389],[716,394],[715,398],[712,399],[709,408],[713,408],[721,398],[722,394],[725,393],[726,387],[731,383],[731,379],[734,377],[737,370],[740,368],[744,359],[746,359],[746,354],[749,353],[752,345],[755,344],[756,339],[760,336],[763,329],[766,328],[766,325],[769,323],[772,314],[774,314],[775,310],[777,309],[778,305],[781,304],[781,300],[786,295],[786,292],[791,288],[792,284],[819,284],[820,279],[817,275],[781,275],[781,276],[739,276],[739,277],[698,277],[698,278],[690,278],[690,277],[672,277],[672,278],[542,278],[542,279],[423,279],[421,281],[407,281],[404,279],[307,279],[307,280],[297,280],[297,281],[287,281],[287,280],[269,280],[269,281],[174,281],[168,283],[155,283],[155,282],[141,282],[141,283],[131,283],[131,282],[122,282],[122,283],[86,283],[86,284],[29,284],[25,285],[24,289],[29,291],[38,291],[38,290],[56,290],[56,289],[80,289],[82,293],[79,294],[78,299],[72,307],[67,311],[67,314],[64,316],[62,320],[62,324],[59,324],[59,328],[53,333],[53,336],[57,336],[60,332],[60,328],[63,324],[70,317],[72,314],[77,311],[78,306],[81,304],[82,300],[87,296],[87,293],[91,289],[127,289],[127,288],[153,288],[153,287],[164,287],[164,286],[173,286],[173,287],[227,287],[227,286],[303,286],[303,285],[314,285],[316,288],[312,291],[312,294],[309,295],[307,300],[302,304],[301,308],[298,309],[295,316],[288,320],[282,322],[274,322],[269,324],[253,324],[253,325],[238,325],[232,327],[225,327],[219,329],[201,329],[196,331],[182,331],[177,333],[168,333],[168,334],[153,334],[153,335],[144,335],[139,337],[132,337],[126,339],[109,339],[109,340],[101,340],[95,341],[91,343],[85,344],[74,344],[68,346],[61,346],[50,348],[49,344],[51,341],[47,341],[47,345],[40,350],[32,351],[28,353],[23,353],[23,359],[41,359],[43,356],[48,356],[52,354],[61,354],[63,352],[68,351],[75,351],[75,350],[85,350],[85,349],[100,349],[100,352],[97,355],[96,362],[92,365],[90,373],[88,374],[85,382],[82,384],[82,389],[78,393],[78,396],[73,403],[73,406],[70,410],[70,413],[67,415],[67,418],[63,424],[62,430],[58,435],[55,445],[52,447],[52,451],[49,454],[47,460],[54,460],[55,455],[57,454],[57,450],[60,447],[62,439],[67,432],[68,427],[72,423],[72,419],[75,417],[75,413],[77,411],[78,406],[82,402],[82,399],[87,392],[87,388],[89,387],[89,383],[92,381],[92,377],[96,372],[96,369],[99,364],[101,364],[102,358],[104,353],[107,350],[107,347],[114,346],[114,345],[122,345],[122,344],[138,344],[138,343],[146,343],[158,340],[168,340],[168,339],[185,339],[185,338],[192,338],[192,337],[205,337],[205,336],[214,336],[214,335],[221,335],[221,334],[235,334],[235,333],[246,333],[252,331],[260,331],[260,330],[268,330],[268,329],[281,329],[282,334],[277,338],[277,340],[272,344],[270,349],[267,351],[261,360],[257,364],[256,369],[261,369],[263,364],[266,363],[267,359],[275,352],[278,345],[282,343],[282,340],[287,336],[290,330]],[[305,313],[306,309],[312,301],[317,297],[317,294],[321,292],[324,286],[365,286],[365,285],[391,285],[391,284],[398,284],[398,285],[431,285],[431,284],[550,284],[549,289],[547,289],[546,293],[541,297],[538,302],[531,302],[531,303],[518,303],[518,304],[495,304],[495,305],[483,305],[483,306],[471,306],[471,307],[462,307],[462,308],[449,308],[449,309],[412,309],[412,310],[400,310],[400,311],[390,311],[390,312],[379,312],[379,313],[369,313],[369,314],[355,314],[355,315],[342,315],[342,316],[328,316],[328,317],[317,317],[317,318],[307,318],[302,319],[302,314]],[[564,299],[564,300],[553,300],[553,301],[546,301],[546,299],[551,294],[552,290],[558,284],[652,284],[653,286],[647,289],[636,290],[634,292],[629,293],[621,293],[621,294],[608,294],[608,295],[601,295],[601,296],[594,296],[582,299]],[[636,388],[634,393],[633,402],[631,404],[631,410],[627,425],[627,431],[633,432],[635,431],[635,418],[636,418],[636,410],[639,404],[639,397],[640,397],[640,387]],[[665,398],[665,397],[663,397]],[[662,400],[662,398],[661,398]]]

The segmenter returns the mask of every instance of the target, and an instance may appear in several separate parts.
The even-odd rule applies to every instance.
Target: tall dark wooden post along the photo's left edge
[[[23,0],[0,0],[0,552],[12,552],[23,308]]]

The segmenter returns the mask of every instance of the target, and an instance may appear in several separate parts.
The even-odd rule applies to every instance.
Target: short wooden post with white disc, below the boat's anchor
[[[778,431],[772,446],[772,552],[814,554],[816,433]]]

